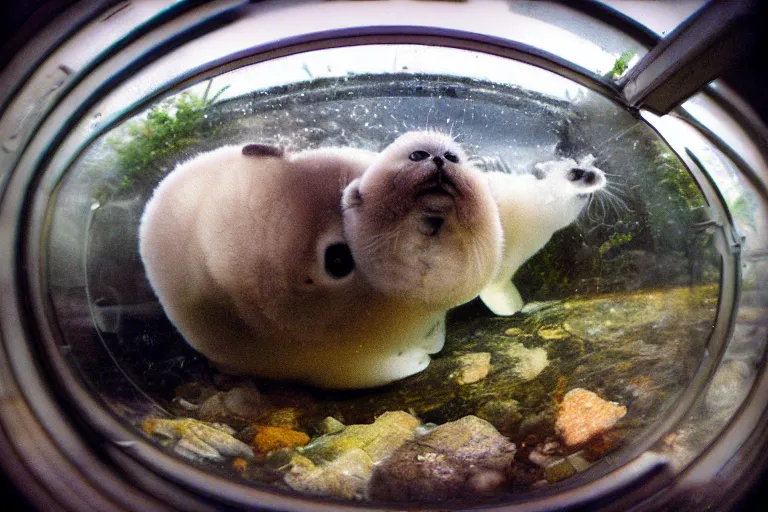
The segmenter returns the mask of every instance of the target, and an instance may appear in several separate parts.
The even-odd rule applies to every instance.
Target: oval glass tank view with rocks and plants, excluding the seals
[[[728,156],[704,141],[691,157],[695,135],[662,124],[540,68],[432,46],[317,50],[206,79],[105,133],[60,176],[45,279],[67,360],[182,459],[312,496],[514,499],[588,481],[655,443],[685,450],[696,440],[668,429],[714,371],[740,236],[765,233],[765,212]],[[367,390],[233,377],[186,344],[138,252],[144,207],[175,166],[225,144],[378,152],[412,130],[449,134],[486,177],[587,157],[604,173],[514,274],[521,311],[497,316],[479,299],[451,309],[424,371]],[[538,208],[552,205],[542,196]],[[745,289],[765,290],[765,272],[745,274]],[[709,431],[743,397],[762,345],[739,350],[708,395]]]

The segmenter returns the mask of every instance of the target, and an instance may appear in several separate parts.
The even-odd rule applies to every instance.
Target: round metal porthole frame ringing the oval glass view
[[[10,165],[10,159],[2,161],[5,169],[0,174],[3,176],[0,205],[3,221],[0,225],[0,237],[12,242],[8,249],[0,253],[0,275],[6,290],[0,307],[0,391],[8,398],[0,405],[0,447],[4,452],[15,455],[15,459],[11,459],[13,462],[3,463],[13,479],[37,482],[33,499],[39,505],[68,503],[72,507],[106,510],[135,508],[140,504],[143,510],[168,507],[213,510],[221,500],[226,500],[229,506],[272,510],[331,511],[367,508],[366,504],[311,500],[303,496],[262,491],[207,474],[167,455],[126,428],[106,412],[68,371],[59,350],[60,344],[56,341],[58,335],[52,329],[51,311],[46,305],[47,299],[43,291],[45,263],[40,261],[39,255],[44,252],[42,249],[47,204],[51,194],[55,193],[59,176],[84,148],[132,113],[189,84],[243,65],[320,48],[398,43],[449,46],[526,62],[584,85],[639,115],[639,112],[627,103],[617,84],[599,79],[594,73],[562,58],[514,41],[435,27],[350,27],[304,34],[276,41],[272,45],[252,47],[236,55],[227,55],[220,61],[193,68],[184,76],[162,84],[151,94],[127,105],[121,115],[105,122],[88,138],[70,146],[66,154],[57,154],[61,151],[60,144],[65,140],[68,129],[75,126],[87,114],[89,106],[109,92],[122,78],[135,73],[139,66],[146,66],[153,57],[172,52],[178,45],[206,30],[225,26],[240,16],[252,14],[252,11],[246,12],[247,9],[240,2],[223,4],[226,5],[219,11],[201,13],[201,19],[190,23],[181,34],[177,33],[175,28],[170,29],[166,23],[181,14],[195,13],[196,6],[185,5],[184,9],[164,12],[163,16],[166,18],[142,27],[141,30],[146,31],[145,33],[132,33],[131,41],[124,41],[124,47],[115,48],[114,53],[104,52],[101,61],[94,62],[83,72],[83,76],[78,77],[79,80],[85,80],[101,74],[104,87],[96,91],[79,90],[81,82],[77,80],[67,85],[58,100],[40,113],[39,122],[35,121],[29,126],[29,137],[22,141],[23,151],[18,152],[22,157]],[[253,7],[257,6],[251,6]],[[92,14],[103,14],[103,8],[103,5],[94,8]],[[168,33],[165,34],[167,39],[164,44],[143,55],[135,56],[122,67],[118,66],[121,69],[118,73],[109,69],[110,61],[121,51],[130,49],[132,42],[139,41],[147,33],[158,34],[165,29]],[[41,60],[44,57],[44,54],[41,55]],[[27,74],[22,77],[14,91],[20,91],[29,76]],[[735,117],[738,116],[738,121],[747,127],[752,137],[762,138],[762,145],[759,142],[752,144],[762,150],[763,158],[766,159],[768,138],[765,136],[765,127],[756,122],[754,115],[738,100],[733,99],[727,89],[714,91],[710,88],[705,94],[711,101],[722,105],[734,113]],[[7,106],[8,103],[5,107]],[[680,109],[675,111],[675,115],[694,125],[714,146],[731,156],[741,172],[763,194],[763,199],[768,200],[768,176],[760,174],[739,158],[716,129],[698,123],[693,116]],[[64,122],[61,122],[62,120]],[[660,126],[656,126],[656,129],[664,138],[664,129]],[[697,166],[695,155],[687,153],[685,148],[675,149],[689,168]],[[51,165],[54,166],[53,170]],[[43,168],[47,168],[47,171],[41,179],[40,171]],[[722,216],[727,219],[727,210],[722,212]],[[733,253],[737,255],[738,234],[734,234],[732,226],[727,222],[722,232],[724,243],[733,248]],[[735,300],[738,297],[740,265],[738,259],[734,259],[729,265],[732,267],[731,277],[728,278],[731,282],[726,289],[731,290]],[[735,307],[735,302],[732,304]],[[725,319],[725,316],[721,318]],[[726,324],[728,325],[720,329],[720,341],[723,344],[733,329],[731,322]],[[44,341],[39,344],[33,341],[35,338]],[[712,358],[712,368],[717,359],[715,354]],[[706,380],[711,371],[713,370],[702,373],[701,379]],[[745,402],[729,427],[720,434],[721,446],[711,447],[701,454],[682,478],[673,479],[674,475],[666,467],[662,457],[642,450],[644,453],[638,454],[633,462],[602,475],[588,485],[570,489],[566,486],[566,489],[557,495],[533,497],[528,501],[500,505],[499,510],[508,507],[515,510],[556,510],[574,504],[582,507],[607,506],[621,509],[620,505],[628,506],[641,497],[655,500],[656,504],[661,505],[672,497],[672,489],[684,492],[691,483],[710,480],[720,470],[726,473],[735,470],[731,463],[735,460],[733,453],[728,453],[722,445],[739,445],[742,449],[749,449],[750,446],[762,446],[766,442],[768,434],[761,434],[765,431],[765,428],[761,427],[768,424],[764,410],[766,404],[755,401],[760,396],[768,396],[768,375],[764,365],[753,386],[750,399]],[[690,402],[694,398],[691,397]],[[55,413],[51,414],[51,411]],[[680,411],[680,414],[682,413],[683,411]],[[29,450],[30,446],[35,446],[34,457],[30,456],[30,452],[24,451]],[[756,451],[752,450],[753,456],[757,456],[754,453]],[[765,458],[763,456],[763,459]],[[105,460],[108,463],[105,463]],[[764,463],[765,460],[759,462],[761,467]],[[608,460],[605,464],[610,465],[611,461]],[[118,474],[119,477],[116,476]],[[67,478],[62,479],[64,475],[67,475]],[[130,482],[131,479],[134,482]],[[62,488],[63,482],[69,486],[66,491]],[[59,491],[63,494],[59,494]],[[669,493],[668,496],[664,496],[665,493]]]

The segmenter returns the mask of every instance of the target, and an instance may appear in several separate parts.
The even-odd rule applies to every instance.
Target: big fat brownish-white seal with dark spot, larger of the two
[[[461,154],[455,144],[450,148],[450,155]],[[424,282],[393,293],[389,279],[377,276],[376,265],[365,261],[371,248],[386,245],[377,233],[402,242],[389,248],[398,261],[422,255],[430,265],[441,265],[432,254],[439,252],[436,240],[451,246],[455,243],[451,234],[461,229],[452,226],[457,216],[448,211],[448,203],[456,203],[456,211],[472,210],[469,203],[477,200],[470,197],[475,185],[482,186],[487,196],[483,201],[493,206],[497,224],[498,216],[487,182],[469,169],[470,178],[454,178],[456,185],[436,184],[421,195],[420,189],[410,192],[411,197],[419,196],[420,205],[439,203],[432,205],[440,211],[431,213],[428,234],[420,233],[434,239],[432,252],[414,254],[407,244],[418,240],[395,236],[397,227],[387,232],[361,229],[355,224],[360,205],[351,203],[364,198],[362,204],[368,199],[370,205],[379,204],[376,192],[360,193],[368,172],[375,181],[384,169],[405,172],[426,165],[408,159],[415,150],[402,157],[387,151],[377,155],[327,148],[288,154],[258,144],[228,146],[169,174],[145,208],[140,253],[168,317],[190,345],[230,373],[327,388],[378,386],[425,368],[427,354],[442,347],[445,310],[459,298],[469,300],[479,293],[495,272],[501,227],[488,228],[495,243],[490,254],[476,263],[488,267],[480,272],[487,275],[480,275],[479,282],[469,287],[462,273],[453,270],[453,275],[441,276],[462,289],[454,293],[458,298],[422,300],[431,295],[425,288],[439,269],[423,272]],[[446,153],[448,149],[440,154]],[[395,157],[409,165],[401,165]],[[460,164],[431,165],[463,176]],[[466,190],[467,198],[453,198],[441,187],[454,194]],[[429,199],[433,196],[438,199]],[[393,211],[405,213],[402,202],[394,203]],[[437,220],[441,216],[444,223]],[[349,230],[343,226],[348,220],[354,224]],[[470,224],[480,227],[474,221]],[[443,232],[443,227],[450,229]],[[485,237],[479,240],[481,246],[466,244],[465,250],[472,252],[462,258],[466,265],[486,250]],[[355,254],[351,246],[362,249]],[[450,248],[446,252],[454,253]],[[452,288],[442,284],[435,291]]]

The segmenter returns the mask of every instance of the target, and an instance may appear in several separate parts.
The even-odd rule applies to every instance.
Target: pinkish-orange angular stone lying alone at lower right
[[[555,431],[567,446],[579,446],[608,432],[627,414],[623,405],[603,400],[592,391],[570,390],[557,412]]]

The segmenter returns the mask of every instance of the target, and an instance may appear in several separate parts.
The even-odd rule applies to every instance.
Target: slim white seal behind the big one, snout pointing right
[[[480,293],[497,315],[508,316],[525,304],[512,276],[552,235],[572,223],[591,194],[605,187],[603,171],[588,155],[538,163],[532,174],[486,174],[499,207],[504,230],[504,256],[498,273]]]

